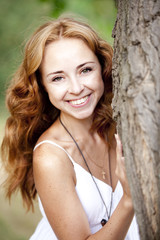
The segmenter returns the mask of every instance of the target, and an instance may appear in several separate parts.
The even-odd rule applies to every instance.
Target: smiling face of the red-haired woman
[[[47,45],[41,73],[51,103],[62,114],[92,116],[104,84],[99,61],[82,40],[62,38]]]

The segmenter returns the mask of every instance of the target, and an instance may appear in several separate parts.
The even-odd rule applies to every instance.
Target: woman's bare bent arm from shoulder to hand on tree
[[[120,151],[118,147],[118,157],[121,156]],[[118,160],[120,161],[119,158]],[[120,161],[119,167],[121,164]],[[64,152],[49,144],[37,148],[34,152],[34,178],[46,216],[59,240],[124,239],[134,215],[128,192],[124,191],[108,223],[92,235],[75,190],[73,165]],[[123,188],[129,189],[125,174],[119,179],[123,182]]]

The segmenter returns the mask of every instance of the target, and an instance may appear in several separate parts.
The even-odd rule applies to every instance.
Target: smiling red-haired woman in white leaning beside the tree
[[[43,218],[30,240],[138,240],[112,119],[112,48],[70,18],[41,26],[7,92],[2,159],[10,197]]]

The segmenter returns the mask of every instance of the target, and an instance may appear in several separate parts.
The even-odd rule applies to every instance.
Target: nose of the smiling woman
[[[80,82],[80,79],[76,77],[70,78],[68,92],[74,95],[80,94],[84,89],[84,85]]]

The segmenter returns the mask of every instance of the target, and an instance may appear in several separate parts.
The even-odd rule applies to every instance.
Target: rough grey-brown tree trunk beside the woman
[[[114,117],[141,239],[160,239],[160,0],[118,0]]]

